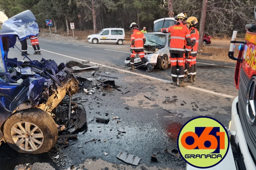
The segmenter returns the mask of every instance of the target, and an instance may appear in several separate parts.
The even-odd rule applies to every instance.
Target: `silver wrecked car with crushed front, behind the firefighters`
[[[151,32],[144,33],[144,35],[146,37],[146,43],[144,44],[145,58],[155,68],[167,69],[170,64],[170,33]],[[130,57],[126,58],[124,62],[126,65],[130,65]],[[137,54],[134,57],[134,68],[140,67],[145,67],[145,64]]]

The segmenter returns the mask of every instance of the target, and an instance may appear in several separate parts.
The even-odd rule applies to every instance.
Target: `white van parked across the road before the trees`
[[[97,34],[88,35],[87,41],[97,44],[98,42],[115,42],[122,45],[125,42],[123,28],[104,28]]]

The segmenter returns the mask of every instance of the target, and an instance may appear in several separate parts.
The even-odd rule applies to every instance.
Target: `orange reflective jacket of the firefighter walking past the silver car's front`
[[[144,51],[143,45],[146,42],[146,37],[144,34],[137,30],[133,30],[133,34],[131,35],[131,49],[135,52],[141,52]]]

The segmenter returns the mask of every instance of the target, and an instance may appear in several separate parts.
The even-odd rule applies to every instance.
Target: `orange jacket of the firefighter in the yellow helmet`
[[[190,47],[186,46],[187,51],[191,51],[189,56],[195,57],[197,55],[198,42],[199,42],[199,32],[196,28],[190,28],[190,36],[191,36],[191,45]]]

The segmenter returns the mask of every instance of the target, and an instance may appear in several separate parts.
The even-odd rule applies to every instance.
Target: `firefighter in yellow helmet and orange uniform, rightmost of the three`
[[[190,49],[189,56],[187,59],[187,68],[188,68],[188,79],[185,80],[187,83],[193,83],[196,81],[196,55],[199,41],[199,32],[196,29],[198,20],[196,17],[189,17],[186,21],[187,27],[190,31],[191,36],[191,46],[186,48]]]

